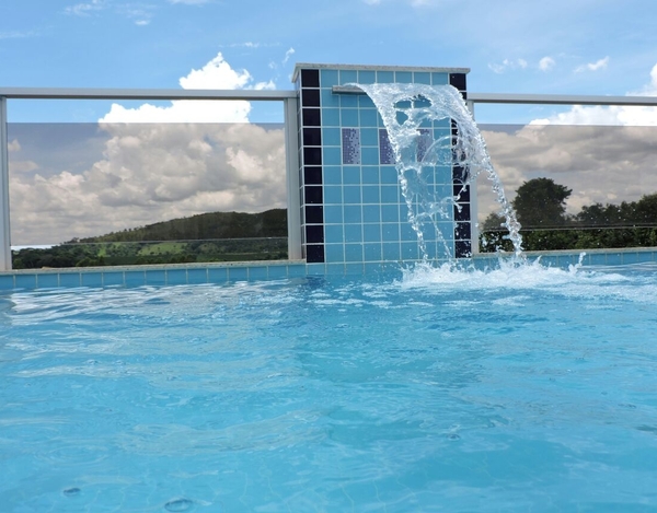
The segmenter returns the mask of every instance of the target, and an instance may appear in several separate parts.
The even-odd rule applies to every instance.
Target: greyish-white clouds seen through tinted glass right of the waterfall
[[[657,190],[653,127],[525,126],[483,128],[486,147],[512,199],[523,182],[548,177],[573,189],[567,211],[595,202],[634,201]],[[629,179],[629,177],[632,177]],[[480,220],[497,210],[491,185],[479,182]]]

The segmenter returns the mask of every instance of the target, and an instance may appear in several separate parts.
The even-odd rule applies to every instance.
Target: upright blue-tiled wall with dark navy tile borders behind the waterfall
[[[292,81],[299,92],[299,195],[302,258],[328,272],[350,272],[364,264],[416,261],[417,234],[397,179],[383,120],[366,94],[336,86],[360,83],[451,84],[465,92],[464,68],[377,67],[299,63]],[[426,121],[426,140],[449,135],[449,119]],[[427,143],[429,144],[429,143]],[[428,145],[427,145],[428,148]],[[418,148],[418,151],[420,149]],[[463,170],[434,166],[427,185],[439,197],[461,189]],[[461,194],[452,218],[440,223],[450,256],[472,253],[470,191]],[[430,258],[446,258],[436,231],[425,232]]]

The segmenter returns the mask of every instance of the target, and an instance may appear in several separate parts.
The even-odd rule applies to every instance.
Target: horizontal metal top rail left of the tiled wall
[[[283,90],[180,90],[0,88],[0,97],[21,100],[246,100],[281,101],[297,96]]]

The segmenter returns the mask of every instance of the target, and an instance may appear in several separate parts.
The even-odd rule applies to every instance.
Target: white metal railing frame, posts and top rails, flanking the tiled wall
[[[354,86],[333,88],[334,93],[364,94]],[[466,94],[468,106],[474,113],[475,104],[543,104],[543,105],[604,105],[657,107],[657,96],[602,96],[515,93]],[[8,100],[243,100],[284,102],[286,174],[288,194],[289,258],[301,258],[299,151],[297,148],[299,100],[296,91],[287,90],[137,90],[137,89],[69,89],[69,88],[0,88],[0,271],[11,270],[9,149],[7,133]],[[475,225],[473,224],[473,228]],[[473,230],[472,238],[477,234]]]

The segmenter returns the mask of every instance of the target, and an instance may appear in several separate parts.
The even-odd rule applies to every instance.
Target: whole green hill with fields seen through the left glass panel
[[[25,248],[12,257],[14,269],[284,259],[287,210],[203,213]]]

